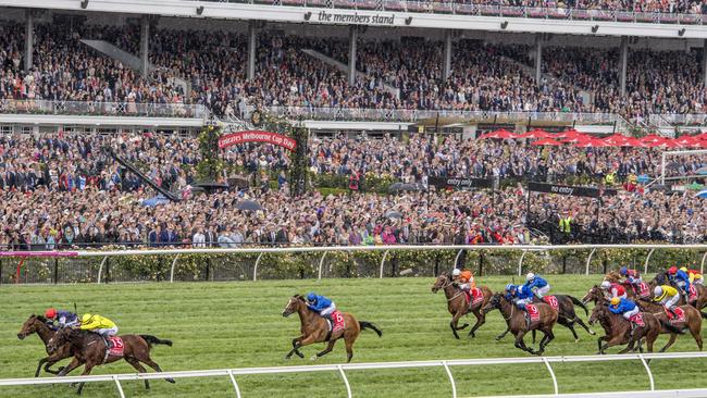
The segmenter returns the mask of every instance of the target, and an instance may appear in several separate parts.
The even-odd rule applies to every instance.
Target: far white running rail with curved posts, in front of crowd
[[[656,250],[679,249],[705,251],[700,260],[700,272],[704,273],[707,263],[707,245],[392,245],[392,246],[319,246],[319,247],[241,247],[241,248],[191,248],[191,249],[144,249],[144,250],[115,250],[115,251],[0,251],[0,257],[101,257],[102,261],[98,271],[97,282],[100,284],[103,275],[103,265],[111,257],[123,256],[174,256],[170,270],[170,282],[174,282],[174,270],[182,254],[238,254],[258,253],[255,263],[252,281],[258,279],[258,268],[263,254],[266,253],[303,253],[318,252],[322,257],[319,261],[318,279],[322,278],[322,268],[326,253],[336,251],[383,251],[381,258],[379,276],[383,278],[383,270],[388,253],[396,250],[457,250],[457,258],[463,250],[518,250],[522,254],[518,261],[518,275],[523,274],[523,260],[528,252],[546,250],[591,250],[585,262],[585,274],[590,274],[590,264],[594,254],[601,249],[645,249],[648,254],[644,261],[644,273],[648,273],[648,262]],[[455,261],[456,262],[456,261]]]

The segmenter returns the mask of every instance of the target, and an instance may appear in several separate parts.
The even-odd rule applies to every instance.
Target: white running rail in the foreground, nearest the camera
[[[263,374],[286,374],[286,373],[309,373],[309,372],[338,372],[346,393],[349,398],[354,397],[354,390],[349,384],[346,371],[363,371],[363,370],[381,370],[381,369],[422,369],[422,368],[444,368],[447,373],[447,378],[451,386],[451,397],[457,398],[457,384],[454,374],[450,370],[451,366],[488,366],[488,365],[504,365],[504,364],[525,364],[525,363],[543,363],[547,369],[551,380],[554,395],[559,396],[559,386],[557,376],[553,370],[551,363],[570,363],[570,362],[606,362],[606,361],[631,361],[637,360],[643,363],[646,370],[648,381],[650,383],[649,391],[611,391],[611,393],[590,393],[590,394],[572,394],[568,396],[582,396],[582,397],[621,397],[633,398],[636,396],[655,396],[655,397],[705,397],[707,396],[707,388],[699,389],[680,389],[680,390],[656,390],[655,380],[648,360],[654,359],[695,359],[707,358],[707,352],[673,352],[673,353],[637,353],[637,355],[612,355],[612,356],[573,356],[573,357],[520,357],[520,358],[484,358],[484,359],[455,359],[455,360],[438,360],[438,361],[410,361],[410,362],[376,362],[376,363],[344,363],[344,364],[323,364],[323,365],[306,365],[306,366],[276,366],[276,368],[245,368],[245,369],[221,369],[221,370],[207,370],[207,371],[182,371],[182,372],[164,372],[164,373],[132,373],[132,374],[107,374],[95,376],[71,376],[71,377],[47,377],[47,378],[5,378],[0,380],[0,387],[8,386],[28,386],[28,385],[47,385],[47,384],[69,384],[69,383],[98,383],[98,382],[112,382],[115,383],[117,394],[121,398],[125,398],[123,386],[121,382],[127,381],[141,381],[141,380],[162,380],[165,377],[172,378],[193,378],[193,377],[230,377],[231,383],[237,398],[241,398],[243,394],[236,381],[236,376],[241,375],[263,375]],[[605,388],[610,388],[606,386]],[[0,390],[1,391],[1,390]],[[524,397],[528,397],[525,395]]]

